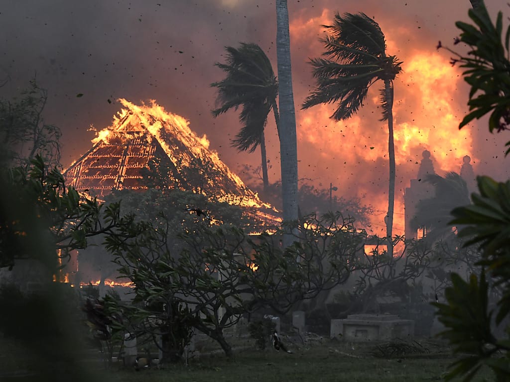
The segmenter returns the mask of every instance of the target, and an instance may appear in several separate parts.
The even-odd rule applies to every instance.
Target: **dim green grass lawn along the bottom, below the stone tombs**
[[[361,345],[362,348],[366,347]],[[192,360],[184,365],[167,367],[164,370],[109,372],[111,381],[151,382],[395,382],[443,380],[448,358],[395,358],[380,359],[356,355],[341,350],[339,344],[302,348],[293,354],[275,351],[242,351],[232,360],[224,357],[208,357]],[[359,353],[363,353],[360,351]],[[110,379],[111,378],[111,379]],[[476,381],[492,380],[486,371]]]

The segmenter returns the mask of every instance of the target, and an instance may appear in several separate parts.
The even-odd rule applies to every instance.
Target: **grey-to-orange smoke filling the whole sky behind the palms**
[[[0,96],[11,98],[34,75],[49,91],[45,121],[63,130],[63,165],[90,147],[93,132],[111,123],[118,98],[135,103],[156,99],[166,110],[190,120],[198,135],[207,134],[211,148],[232,170],[258,166],[257,153],[238,154],[230,139],[239,129],[236,113],[211,116],[216,98],[210,87],[223,73],[224,46],[258,43],[276,71],[273,2],[195,0],[157,2],[9,1],[0,9],[4,42],[0,79],[10,77]],[[487,0],[494,16],[508,12],[506,2]],[[396,231],[403,228],[402,194],[416,177],[421,153],[428,149],[436,170],[460,171],[470,155],[476,173],[506,179],[504,142],[491,135],[482,120],[461,132],[456,126],[467,112],[468,88],[449,56],[437,51],[450,44],[456,20],[468,20],[468,0],[300,0],[289,1],[291,52],[298,133],[299,177],[317,187],[338,187],[337,196],[359,196],[372,204],[382,229],[387,209],[387,127],[380,122],[378,88],[369,93],[353,118],[334,122],[333,105],[306,112],[299,105],[314,85],[309,58],[322,52],[321,24],[336,12],[364,12],[381,26],[387,51],[403,61],[395,80],[395,146],[397,153]],[[76,97],[83,94],[82,97]],[[270,181],[279,179],[279,142],[272,116],[266,129]],[[243,172],[239,175],[243,178]]]

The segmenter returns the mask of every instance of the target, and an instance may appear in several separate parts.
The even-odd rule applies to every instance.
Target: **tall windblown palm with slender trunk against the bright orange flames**
[[[358,112],[368,89],[377,80],[384,82],[380,91],[382,119],[388,121],[390,185],[388,213],[385,216],[388,252],[393,254],[393,209],[395,203],[395,146],[393,143],[393,80],[402,70],[395,56],[387,56],[386,41],[379,25],[364,13],[335,15],[333,25],[323,25],[329,32],[322,39],[325,58],[311,60],[317,87],[305,99],[303,109],[320,103],[338,102],[330,118],[345,120]]]

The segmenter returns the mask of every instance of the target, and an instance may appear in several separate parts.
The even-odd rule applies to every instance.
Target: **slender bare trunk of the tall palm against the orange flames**
[[[386,101],[388,103],[388,156],[390,158],[390,184],[388,187],[388,214],[386,215],[386,240],[388,254],[393,256],[393,210],[395,206],[395,144],[393,142],[393,84],[385,80]]]

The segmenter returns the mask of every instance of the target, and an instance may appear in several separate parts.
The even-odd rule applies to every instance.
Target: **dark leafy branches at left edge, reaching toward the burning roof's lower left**
[[[112,233],[119,223],[118,203],[104,207],[66,187],[60,171],[39,155],[30,168],[2,169],[0,177],[0,267],[37,259],[53,274],[58,256],[67,258],[85,248],[87,238]]]

